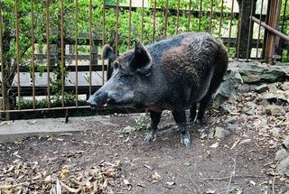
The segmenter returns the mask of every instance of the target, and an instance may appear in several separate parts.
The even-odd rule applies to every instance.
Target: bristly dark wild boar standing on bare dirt
[[[181,131],[181,142],[191,144],[185,109],[190,118],[202,121],[212,94],[228,67],[228,52],[209,33],[184,33],[144,46],[135,42],[135,49],[117,57],[106,45],[103,58],[112,60],[114,71],[107,83],[89,97],[97,108],[108,106],[137,106],[148,108],[151,126],[144,138],[152,142],[162,111],[169,109]]]

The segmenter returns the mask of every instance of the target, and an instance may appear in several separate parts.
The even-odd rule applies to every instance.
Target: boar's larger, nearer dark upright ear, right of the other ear
[[[150,63],[151,63],[151,56],[145,50],[143,44],[140,42],[135,42],[135,55],[129,64],[130,68],[133,71],[139,69],[139,71],[142,72],[141,69],[150,69],[151,66]]]

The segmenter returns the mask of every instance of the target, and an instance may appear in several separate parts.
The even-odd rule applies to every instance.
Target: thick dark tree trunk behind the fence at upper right
[[[256,0],[237,0],[239,7],[238,39],[236,42],[236,57],[250,58],[253,38],[253,22],[250,27],[250,15],[253,5],[253,15],[256,12]],[[238,41],[239,40],[239,41]],[[248,46],[248,47],[247,47]]]

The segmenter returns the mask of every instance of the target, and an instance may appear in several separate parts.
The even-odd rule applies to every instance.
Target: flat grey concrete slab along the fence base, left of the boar
[[[15,142],[33,135],[46,136],[86,130],[77,126],[87,121],[101,125],[114,125],[110,122],[109,116],[106,115],[70,117],[67,124],[65,124],[65,118],[3,121],[0,123],[0,143]]]

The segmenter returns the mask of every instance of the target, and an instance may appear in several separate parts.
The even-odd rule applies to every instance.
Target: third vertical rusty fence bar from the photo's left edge
[[[31,0],[31,44],[32,44],[32,66],[33,66],[33,109],[35,109],[35,57],[34,57],[34,7],[33,7],[33,0]]]

